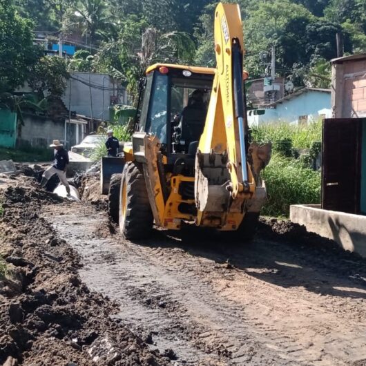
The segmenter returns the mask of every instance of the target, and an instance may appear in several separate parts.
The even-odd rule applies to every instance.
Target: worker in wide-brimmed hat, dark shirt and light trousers
[[[57,174],[60,182],[66,187],[66,192],[70,195],[70,186],[66,178],[66,169],[69,162],[68,152],[64,149],[64,145],[61,144],[58,139],[54,139],[52,144],[50,144],[50,147],[55,148],[55,161],[52,166],[44,171],[41,186],[46,186],[52,175]]]

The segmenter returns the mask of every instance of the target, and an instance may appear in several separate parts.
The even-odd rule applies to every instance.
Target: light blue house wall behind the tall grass
[[[331,93],[307,90],[291,99],[276,104],[275,108],[265,109],[264,115],[249,116],[249,126],[258,126],[269,122],[298,123],[300,116],[308,116],[308,122],[319,115],[331,117]]]

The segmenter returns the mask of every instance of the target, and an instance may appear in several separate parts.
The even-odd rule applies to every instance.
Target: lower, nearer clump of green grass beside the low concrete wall
[[[288,217],[291,204],[320,203],[320,172],[300,160],[274,154],[262,175],[268,195],[262,215]]]

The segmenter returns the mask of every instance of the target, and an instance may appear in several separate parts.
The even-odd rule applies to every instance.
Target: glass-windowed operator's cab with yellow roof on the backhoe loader
[[[212,68],[164,64],[146,71],[135,131],[156,135],[169,164],[174,164],[180,154],[195,155],[214,74]]]

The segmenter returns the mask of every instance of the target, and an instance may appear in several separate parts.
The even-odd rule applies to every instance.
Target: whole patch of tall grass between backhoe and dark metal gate
[[[288,217],[291,204],[320,203],[321,174],[311,168],[321,147],[320,120],[308,126],[265,124],[251,135],[256,142],[272,142],[273,155],[262,172],[268,196],[262,215]]]

